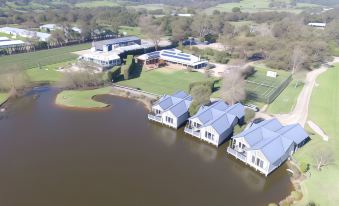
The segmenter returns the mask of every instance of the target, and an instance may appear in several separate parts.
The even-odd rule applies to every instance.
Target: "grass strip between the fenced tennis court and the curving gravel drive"
[[[293,110],[298,96],[304,87],[303,83],[298,83],[293,80],[286,89],[272,102],[268,107],[268,112],[271,114],[286,114]]]

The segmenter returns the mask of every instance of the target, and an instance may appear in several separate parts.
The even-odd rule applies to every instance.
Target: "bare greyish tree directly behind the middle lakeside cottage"
[[[222,80],[220,89],[222,99],[231,105],[244,100],[246,98],[245,84],[242,72],[237,69],[231,69],[229,73],[224,75]]]

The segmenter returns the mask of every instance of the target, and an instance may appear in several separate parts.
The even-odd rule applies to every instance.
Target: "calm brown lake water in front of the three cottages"
[[[141,103],[54,105],[38,88],[0,113],[1,206],[267,205],[292,185],[283,166],[268,178],[179,131],[147,121]]]

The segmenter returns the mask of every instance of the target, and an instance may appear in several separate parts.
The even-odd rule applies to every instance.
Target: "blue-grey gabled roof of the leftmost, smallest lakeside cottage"
[[[191,103],[192,97],[184,91],[179,91],[173,95],[162,96],[153,106],[159,105],[164,112],[170,111],[174,116],[180,117],[188,112]]]

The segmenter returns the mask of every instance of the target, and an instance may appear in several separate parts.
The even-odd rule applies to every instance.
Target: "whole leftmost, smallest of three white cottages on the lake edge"
[[[148,115],[148,119],[177,129],[187,121],[191,103],[192,97],[183,91],[163,95],[152,106],[152,114]]]

